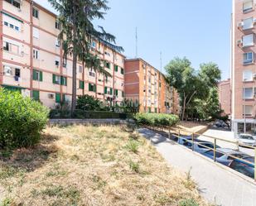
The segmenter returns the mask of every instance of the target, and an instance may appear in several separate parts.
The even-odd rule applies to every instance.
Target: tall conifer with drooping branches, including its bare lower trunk
[[[98,57],[90,54],[90,45],[96,40],[109,48],[123,51],[120,46],[115,46],[115,37],[102,26],[95,29],[94,19],[104,19],[104,14],[109,10],[106,0],[48,0],[56,11],[59,12],[58,20],[61,25],[59,39],[64,50],[64,59],[68,55],[73,58],[72,74],[72,102],[71,115],[73,115],[76,104],[76,66],[77,60],[82,61],[91,68],[104,72],[102,62]],[[113,44],[114,43],[114,44]]]

